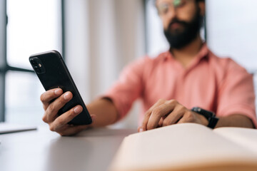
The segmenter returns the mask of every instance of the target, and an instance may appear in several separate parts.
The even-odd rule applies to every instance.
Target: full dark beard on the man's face
[[[178,23],[183,26],[183,31],[172,30],[171,24]],[[170,44],[171,48],[181,49],[196,39],[198,33],[200,33],[201,26],[203,24],[203,16],[200,14],[198,9],[196,15],[193,17],[191,22],[179,21],[173,19],[168,25],[168,29],[164,30],[164,34]]]

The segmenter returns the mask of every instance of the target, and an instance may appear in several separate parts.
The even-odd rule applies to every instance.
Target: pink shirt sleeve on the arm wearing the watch
[[[218,90],[216,115],[246,115],[257,128],[253,76],[231,59],[227,68]]]

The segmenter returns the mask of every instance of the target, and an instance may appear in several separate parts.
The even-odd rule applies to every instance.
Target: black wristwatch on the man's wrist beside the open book
[[[208,128],[215,128],[216,124],[218,123],[218,118],[215,117],[213,112],[198,107],[194,107],[191,110],[195,113],[203,115],[208,120]]]

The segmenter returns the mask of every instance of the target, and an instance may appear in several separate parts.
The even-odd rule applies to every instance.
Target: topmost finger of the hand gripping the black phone
[[[45,93],[41,94],[40,100],[43,103],[44,110],[48,108],[51,100],[54,100],[54,98],[58,98],[62,93],[63,90],[61,90],[61,88],[54,88],[51,90],[47,90]]]

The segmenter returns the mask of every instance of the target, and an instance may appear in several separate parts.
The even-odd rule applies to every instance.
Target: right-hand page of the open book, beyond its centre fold
[[[257,155],[257,130],[251,128],[216,128],[218,135],[241,145]]]

